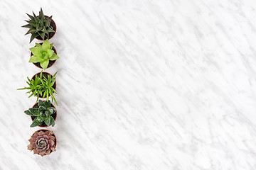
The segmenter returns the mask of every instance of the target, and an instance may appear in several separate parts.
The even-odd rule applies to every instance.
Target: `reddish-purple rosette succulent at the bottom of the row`
[[[42,157],[56,150],[55,136],[53,131],[50,130],[46,130],[46,132],[43,132],[43,130],[36,131],[28,141],[30,142],[28,149]]]

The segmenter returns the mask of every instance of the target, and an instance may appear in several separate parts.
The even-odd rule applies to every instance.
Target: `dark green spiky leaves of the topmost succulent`
[[[22,27],[29,28],[28,32],[25,35],[31,33],[30,42],[38,36],[40,36],[43,40],[46,40],[47,38],[49,38],[49,33],[55,32],[50,26],[50,21],[53,16],[45,18],[42,8],[39,12],[39,16],[36,16],[35,13],[33,13],[33,16],[29,15],[28,13],[26,14],[30,18],[30,20],[25,20],[28,24]]]

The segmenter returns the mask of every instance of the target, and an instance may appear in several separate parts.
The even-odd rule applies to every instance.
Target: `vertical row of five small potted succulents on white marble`
[[[55,60],[59,58],[55,47],[53,47],[53,43],[50,44],[49,42],[49,39],[55,35],[56,30],[55,22],[52,19],[53,16],[45,16],[42,8],[38,16],[36,16],[35,13],[33,13],[33,16],[28,13],[26,14],[29,17],[29,20],[26,21],[28,24],[22,27],[29,28],[29,30],[25,35],[31,34],[30,42],[35,38],[44,40],[43,43],[36,43],[35,47],[29,49],[31,50],[31,57],[28,62],[33,62],[36,67],[45,70],[51,67],[55,63]],[[51,98],[51,102],[55,101],[55,104],[58,106],[54,96],[54,94],[57,94],[57,72],[51,75],[48,72],[43,72],[43,70],[35,74],[31,79],[27,77],[28,81],[26,81],[26,84],[28,84],[28,86],[18,89],[28,90],[26,92],[26,94],[30,94],[28,98],[31,96],[36,97],[36,104],[34,104],[32,108],[28,108],[28,110],[24,111],[26,115],[31,116],[31,128],[36,126],[48,127],[50,125],[53,127],[57,117],[57,111],[53,103],[50,103],[49,100],[49,98]],[[46,101],[38,101],[39,98],[46,98]],[[46,129],[37,130],[28,141],[30,142],[28,149],[42,157],[54,152],[57,145],[53,131]]]

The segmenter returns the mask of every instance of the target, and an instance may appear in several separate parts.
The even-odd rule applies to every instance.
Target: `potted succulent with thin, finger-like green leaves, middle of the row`
[[[36,96],[36,102],[38,101],[38,98],[46,98],[46,101],[48,101],[49,96],[51,96],[52,102],[54,100],[58,106],[58,103],[53,96],[54,93],[57,94],[55,91],[57,86],[55,82],[56,74],[57,72],[55,72],[54,75],[51,75],[50,73],[43,72],[42,70],[42,72],[35,74],[32,79],[28,79],[27,77],[28,81],[26,81],[26,83],[28,84],[28,87],[24,87],[18,90],[29,90],[26,92],[26,94],[31,94],[28,96],[28,98],[31,96]]]

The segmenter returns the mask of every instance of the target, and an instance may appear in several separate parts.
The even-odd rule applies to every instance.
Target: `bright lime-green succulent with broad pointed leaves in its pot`
[[[36,46],[31,47],[29,50],[31,50],[31,58],[29,62],[33,62],[33,64],[39,68],[47,69],[59,58],[53,47],[53,43],[50,44],[48,39],[46,39],[42,45],[36,43]]]

